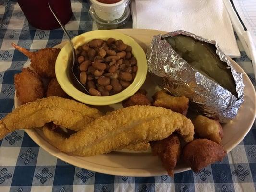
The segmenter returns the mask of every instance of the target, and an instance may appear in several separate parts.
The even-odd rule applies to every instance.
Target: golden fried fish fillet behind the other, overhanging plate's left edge
[[[17,129],[33,129],[53,122],[78,131],[103,114],[70,99],[51,96],[21,105],[0,120],[0,139]]]

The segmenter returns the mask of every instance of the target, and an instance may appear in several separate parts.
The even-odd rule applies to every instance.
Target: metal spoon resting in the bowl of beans
[[[79,89],[80,91],[89,94],[88,90],[85,88],[85,86],[83,84],[81,84],[81,82],[79,81],[79,79],[76,77],[75,74],[79,74],[79,69],[78,69],[78,64],[77,64],[77,60],[76,60],[76,54],[75,54],[75,49],[74,49],[74,45],[71,41],[71,38],[68,34],[68,32],[66,31],[66,29],[64,28],[64,26],[61,24],[61,21],[57,18],[57,16],[55,15],[55,13],[53,12],[53,10],[51,9],[50,4],[48,3],[48,6],[50,8],[50,11],[52,12],[53,16],[55,17],[55,19],[58,21],[58,23],[61,25],[61,28],[63,29],[63,31],[65,32],[66,36],[68,37],[70,46],[72,48],[72,52],[73,52],[73,64],[71,66],[71,70],[69,70],[69,76],[70,79],[73,83],[73,85]]]

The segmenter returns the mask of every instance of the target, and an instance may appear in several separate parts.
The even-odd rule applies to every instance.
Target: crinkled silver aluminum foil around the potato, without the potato
[[[237,96],[193,69],[164,39],[179,34],[215,45],[216,54],[231,69]],[[186,31],[174,31],[154,36],[146,55],[149,72],[160,77],[161,81],[158,85],[174,96],[184,95],[189,98],[190,109],[208,117],[218,118],[220,122],[228,122],[237,115],[244,96],[242,74],[234,70],[230,60],[219,49],[215,41]]]

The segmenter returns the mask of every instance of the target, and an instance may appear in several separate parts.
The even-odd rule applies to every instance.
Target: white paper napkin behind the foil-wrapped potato
[[[185,30],[215,40],[225,54],[240,57],[222,0],[133,0],[133,28]]]

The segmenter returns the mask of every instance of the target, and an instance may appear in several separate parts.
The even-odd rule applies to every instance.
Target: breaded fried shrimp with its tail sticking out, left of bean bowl
[[[61,49],[43,48],[37,52],[30,52],[14,43],[12,46],[31,60],[31,67],[42,77],[55,77],[55,61]]]

